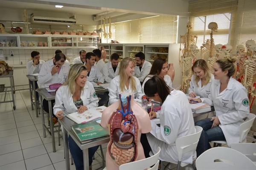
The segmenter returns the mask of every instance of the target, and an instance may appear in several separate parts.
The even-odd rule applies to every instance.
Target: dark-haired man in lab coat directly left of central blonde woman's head
[[[103,68],[105,82],[110,83],[111,80],[118,75],[119,66],[119,55],[117,53],[111,54],[110,62],[107,62]]]

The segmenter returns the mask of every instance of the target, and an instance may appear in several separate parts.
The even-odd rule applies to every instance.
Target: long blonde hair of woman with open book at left
[[[71,94],[74,95],[76,92],[76,78],[79,77],[81,72],[85,70],[87,71],[87,68],[82,63],[76,63],[70,67],[68,71],[67,82],[63,84],[68,86],[68,92],[70,96]],[[84,92],[83,87],[81,87],[81,90]]]

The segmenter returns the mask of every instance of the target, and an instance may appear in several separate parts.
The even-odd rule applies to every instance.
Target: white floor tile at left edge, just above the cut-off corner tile
[[[23,160],[23,154],[22,151],[16,151],[12,153],[7,153],[4,155],[0,155],[0,166],[11,164],[13,162],[22,161]]]

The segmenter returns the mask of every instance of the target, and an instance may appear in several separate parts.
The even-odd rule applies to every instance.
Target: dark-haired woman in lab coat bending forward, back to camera
[[[152,150],[157,153],[157,147],[161,148],[160,159],[164,161],[178,161],[178,153],[175,140],[182,136],[195,133],[195,125],[192,110],[186,94],[182,91],[171,90],[160,76],[154,76],[145,82],[145,95],[156,102],[163,103],[159,113],[160,127],[151,121],[151,132],[142,136],[145,157],[149,157]],[[151,119],[154,116],[151,116]],[[148,141],[145,141],[145,140]],[[183,154],[182,162],[192,164],[195,151]]]

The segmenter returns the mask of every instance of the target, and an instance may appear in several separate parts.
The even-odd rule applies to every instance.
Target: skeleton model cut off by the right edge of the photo
[[[250,110],[253,106],[253,102],[256,98],[256,82],[253,79],[256,78],[256,45],[250,46],[250,51],[253,51],[252,56],[245,60],[245,77],[244,77],[244,87],[247,88],[249,94]]]

